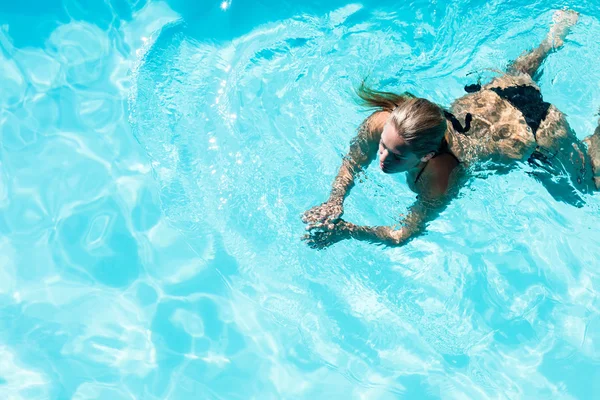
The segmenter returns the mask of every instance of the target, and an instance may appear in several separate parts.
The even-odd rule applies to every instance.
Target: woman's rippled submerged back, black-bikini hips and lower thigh
[[[529,102],[519,103],[520,97]],[[573,204],[582,202],[577,191],[593,189],[586,147],[565,115],[543,101],[530,75],[513,73],[496,78],[478,92],[456,100],[452,111],[459,118],[473,115],[468,135],[450,135],[451,151],[462,162],[491,160],[505,166],[527,162],[534,169],[532,175],[551,194],[557,195],[560,185],[565,192],[561,200]]]

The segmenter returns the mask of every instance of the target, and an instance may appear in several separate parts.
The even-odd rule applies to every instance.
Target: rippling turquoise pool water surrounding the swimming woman
[[[481,172],[407,246],[299,240],[363,77],[448,105],[563,5],[540,86],[590,134],[595,1],[195,3],[0,6],[1,399],[600,395],[600,195]],[[413,198],[372,168],[345,218]]]

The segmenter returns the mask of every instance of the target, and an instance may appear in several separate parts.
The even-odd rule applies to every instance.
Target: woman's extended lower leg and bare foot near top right
[[[508,68],[509,73],[524,73],[533,78],[542,62],[552,50],[562,47],[564,39],[573,25],[577,23],[579,14],[573,10],[556,11],[552,17],[554,24],[542,43],[534,50],[517,58]]]

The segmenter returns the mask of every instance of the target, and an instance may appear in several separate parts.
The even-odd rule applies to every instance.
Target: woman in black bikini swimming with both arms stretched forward
[[[352,140],[329,200],[302,217],[304,240],[324,248],[347,238],[402,245],[422,233],[456,195],[462,166],[491,161],[511,168],[529,162],[531,173],[559,200],[579,205],[579,193],[600,188],[600,126],[580,142],[556,107],[543,100],[534,76],[546,56],[562,47],[578,14],[557,11],[546,39],[520,56],[506,74],[456,100],[451,112],[423,98],[378,92],[363,84],[358,95],[376,111]],[[464,121],[461,122],[461,121]],[[379,154],[384,173],[407,173],[417,200],[401,226],[357,226],[341,219],[354,178]]]

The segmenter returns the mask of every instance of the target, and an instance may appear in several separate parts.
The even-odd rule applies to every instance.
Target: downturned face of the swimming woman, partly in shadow
[[[386,174],[395,174],[414,168],[419,161],[396,128],[387,122],[379,141],[379,168]]]

